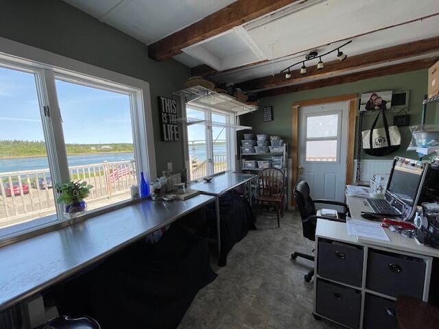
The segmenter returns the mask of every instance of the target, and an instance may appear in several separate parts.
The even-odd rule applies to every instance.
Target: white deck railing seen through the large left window
[[[71,180],[93,185],[88,204],[130,195],[130,186],[137,184],[134,160],[74,166],[69,173]],[[0,183],[0,228],[55,212],[49,169],[0,173]]]

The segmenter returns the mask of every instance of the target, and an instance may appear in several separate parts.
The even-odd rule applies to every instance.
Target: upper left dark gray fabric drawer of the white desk
[[[346,243],[319,240],[317,273],[322,278],[361,287],[363,249]]]

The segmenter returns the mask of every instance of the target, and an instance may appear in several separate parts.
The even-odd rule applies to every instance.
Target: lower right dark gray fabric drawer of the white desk
[[[364,329],[396,329],[396,302],[366,293]]]

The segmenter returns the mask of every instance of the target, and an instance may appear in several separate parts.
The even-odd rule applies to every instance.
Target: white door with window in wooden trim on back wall
[[[298,182],[313,199],[344,201],[348,102],[299,108]]]

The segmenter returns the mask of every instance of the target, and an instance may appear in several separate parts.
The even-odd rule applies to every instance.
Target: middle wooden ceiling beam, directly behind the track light
[[[289,80],[285,79],[285,73],[277,73],[274,76],[268,75],[265,77],[258,77],[257,79],[241,82],[236,86],[237,88],[241,88],[245,91],[285,86],[294,82],[309,80],[311,77],[324,78],[332,75],[333,73],[361,69],[363,67],[394,60],[403,60],[404,58],[423,55],[425,53],[432,53],[434,51],[439,51],[439,36],[369,51],[360,55],[350,56],[343,62],[340,62],[339,60],[326,62],[324,63],[324,69],[322,70],[318,70],[316,65],[309,66],[307,67],[307,74],[305,75],[301,75],[298,67],[295,67],[291,71],[292,78]],[[346,52],[348,53],[348,51]]]

